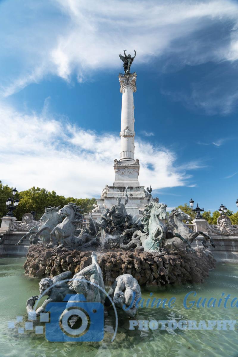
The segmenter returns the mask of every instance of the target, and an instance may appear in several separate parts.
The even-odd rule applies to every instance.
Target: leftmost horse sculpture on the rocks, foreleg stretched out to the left
[[[58,214],[59,208],[60,206],[46,208],[39,224],[30,228],[29,232],[19,240],[17,245],[21,244],[26,238],[30,239],[31,244],[38,243],[39,238],[42,239],[43,243],[50,243],[50,232],[58,223],[62,221]]]

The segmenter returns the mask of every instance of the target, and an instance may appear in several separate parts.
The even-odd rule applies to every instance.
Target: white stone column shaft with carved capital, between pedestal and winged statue
[[[133,93],[136,92],[136,72],[132,74],[119,74],[120,92],[122,93],[121,107],[121,154],[120,160],[133,163],[135,152],[135,131],[134,131],[134,99]]]

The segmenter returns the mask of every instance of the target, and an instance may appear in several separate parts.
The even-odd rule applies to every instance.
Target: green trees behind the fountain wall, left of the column
[[[2,185],[0,181],[0,215],[1,217],[6,215],[6,200],[12,196],[12,188],[7,185]],[[36,212],[35,219],[39,220],[43,215],[46,207],[58,207],[61,208],[67,205],[69,202],[76,203],[81,206],[83,213],[88,213],[93,209],[93,204],[96,203],[95,198],[74,198],[57,195],[55,191],[47,191],[45,188],[31,187],[29,190],[20,191],[16,193],[16,198],[19,198],[20,202],[17,209],[14,212],[17,220],[21,220],[21,217],[26,212]]]

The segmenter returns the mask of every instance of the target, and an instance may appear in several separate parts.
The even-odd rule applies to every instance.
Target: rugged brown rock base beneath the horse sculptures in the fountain
[[[92,263],[91,251],[68,248],[46,248],[42,244],[29,247],[24,264],[31,277],[53,277],[70,270],[77,273]],[[106,286],[111,286],[121,274],[131,274],[140,285],[163,286],[166,284],[201,283],[215,267],[215,259],[209,250],[196,248],[194,253],[116,251],[97,252]]]

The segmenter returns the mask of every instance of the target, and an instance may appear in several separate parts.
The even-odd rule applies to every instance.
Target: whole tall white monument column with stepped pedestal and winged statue
[[[135,51],[136,56],[136,51]],[[126,212],[132,217],[141,217],[144,205],[147,205],[150,195],[140,186],[138,176],[140,174],[139,159],[134,158],[135,152],[135,119],[134,119],[134,92],[136,92],[136,72],[130,73],[130,67],[135,59],[131,55],[119,55],[123,61],[125,73],[120,73],[120,92],[122,93],[121,106],[121,131],[120,131],[120,158],[114,160],[115,181],[113,186],[106,186],[101,197],[97,200],[98,205],[111,208],[117,203],[117,198],[125,202],[126,193],[128,202]],[[96,213],[92,212],[92,215]]]

